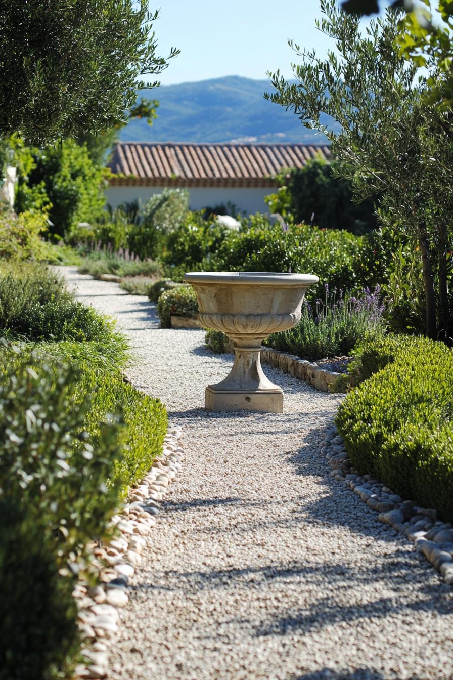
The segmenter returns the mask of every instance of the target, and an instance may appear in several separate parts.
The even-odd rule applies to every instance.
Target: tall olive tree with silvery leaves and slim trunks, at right
[[[365,31],[335,0],[321,0],[321,12],[317,27],[335,41],[336,52],[323,60],[290,41],[302,58],[293,64],[298,82],[276,71],[270,75],[277,91],[266,97],[325,133],[340,160],[338,174],[351,182],[357,199],[381,194],[380,222],[411,239],[420,257],[427,335],[448,339],[450,114],[427,104],[426,80],[415,82],[416,66],[395,49],[401,10],[387,9]],[[322,113],[340,124],[340,133],[321,123]]]

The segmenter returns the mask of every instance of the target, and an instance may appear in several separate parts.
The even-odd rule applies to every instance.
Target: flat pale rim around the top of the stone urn
[[[189,284],[226,284],[228,286],[261,285],[261,286],[310,286],[319,282],[314,274],[298,274],[268,271],[189,271],[184,275]]]

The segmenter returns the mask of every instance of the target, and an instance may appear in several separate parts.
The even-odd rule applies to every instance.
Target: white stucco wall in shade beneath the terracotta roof
[[[120,203],[139,199],[142,203],[149,201],[153,194],[160,194],[163,186],[111,186],[105,191],[107,203],[112,208]],[[238,187],[211,187],[189,188],[190,207],[192,210],[200,210],[206,206],[213,207],[220,203],[234,203],[239,212],[244,211],[247,215],[255,212],[268,212],[268,206],[264,203],[264,197],[274,193],[273,187],[266,188],[238,188]]]

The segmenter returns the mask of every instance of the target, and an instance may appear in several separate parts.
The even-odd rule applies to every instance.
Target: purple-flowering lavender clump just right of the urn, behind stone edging
[[[329,290],[328,284],[324,288],[324,299],[317,299],[314,305],[304,301],[302,317],[295,328],[272,333],[265,344],[313,361],[347,356],[365,335],[384,335],[386,322],[382,318],[384,305],[379,286],[373,292],[363,288],[357,297],[336,288]]]

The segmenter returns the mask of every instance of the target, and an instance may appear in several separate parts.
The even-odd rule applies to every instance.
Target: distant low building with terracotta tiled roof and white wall
[[[310,158],[329,158],[325,144],[209,144],[120,142],[109,163],[106,190],[112,208],[165,187],[187,188],[194,210],[232,203],[247,214],[266,212],[264,197],[278,186],[273,177]]]

